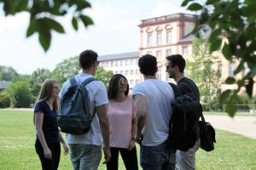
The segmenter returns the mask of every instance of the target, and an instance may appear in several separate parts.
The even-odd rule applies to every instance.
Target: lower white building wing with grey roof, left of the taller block
[[[133,88],[137,82],[140,82],[140,72],[137,66],[139,58],[138,52],[123,53],[123,54],[109,54],[99,56],[100,65],[108,70],[113,71],[113,74],[124,75]]]

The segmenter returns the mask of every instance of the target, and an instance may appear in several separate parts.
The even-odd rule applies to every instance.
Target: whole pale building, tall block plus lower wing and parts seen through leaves
[[[168,78],[168,74],[166,73],[166,56],[182,54],[186,60],[192,56],[192,41],[195,39],[195,36],[191,32],[194,29],[195,20],[195,15],[182,13],[141,20],[139,25],[139,51],[101,56],[100,60],[102,61],[102,66],[107,70],[113,71],[114,74],[120,73],[125,75],[132,88],[137,82],[143,81],[143,77],[140,75],[137,66],[139,56],[152,54],[158,61],[157,77],[163,81],[173,82],[172,79]],[[239,65],[239,61],[234,59],[230,62],[224,59],[220,52],[215,52],[213,55],[218,56],[218,59],[213,65],[213,69],[218,71],[220,76],[219,87],[221,90],[236,89],[236,84],[225,84],[225,79],[227,77],[235,77],[235,71]],[[237,74],[236,78],[241,78],[243,75],[247,74],[248,71],[247,65],[244,65],[243,71]],[[240,94],[245,93],[246,89],[241,88]],[[253,95],[255,94],[256,86],[254,85]]]

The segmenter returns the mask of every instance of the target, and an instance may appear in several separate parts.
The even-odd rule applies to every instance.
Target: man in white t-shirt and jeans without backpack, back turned
[[[157,61],[153,55],[143,55],[138,66],[144,82],[132,89],[132,98],[137,107],[136,140],[141,142],[141,166],[144,170],[172,170],[175,161],[170,162],[170,156],[174,154],[167,139],[174,94],[167,82],[156,78]]]

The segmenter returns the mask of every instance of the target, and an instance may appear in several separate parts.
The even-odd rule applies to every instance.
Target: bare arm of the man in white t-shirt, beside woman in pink
[[[147,109],[147,100],[142,94],[133,95],[132,98],[135,101],[136,111],[137,111],[137,135],[136,141],[140,142],[142,137],[143,127],[146,123],[148,109]]]

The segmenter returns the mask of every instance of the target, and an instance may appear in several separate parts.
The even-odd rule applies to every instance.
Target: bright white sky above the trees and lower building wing
[[[0,65],[9,65],[20,74],[31,74],[38,68],[52,71],[63,59],[79,55],[87,48],[99,55],[138,51],[140,20],[178,12],[183,0],[95,0],[86,9],[95,25],[76,32],[70,18],[60,20],[66,34],[52,34],[49,50],[45,53],[38,35],[26,38],[29,16],[26,13],[5,17],[0,9]]]

